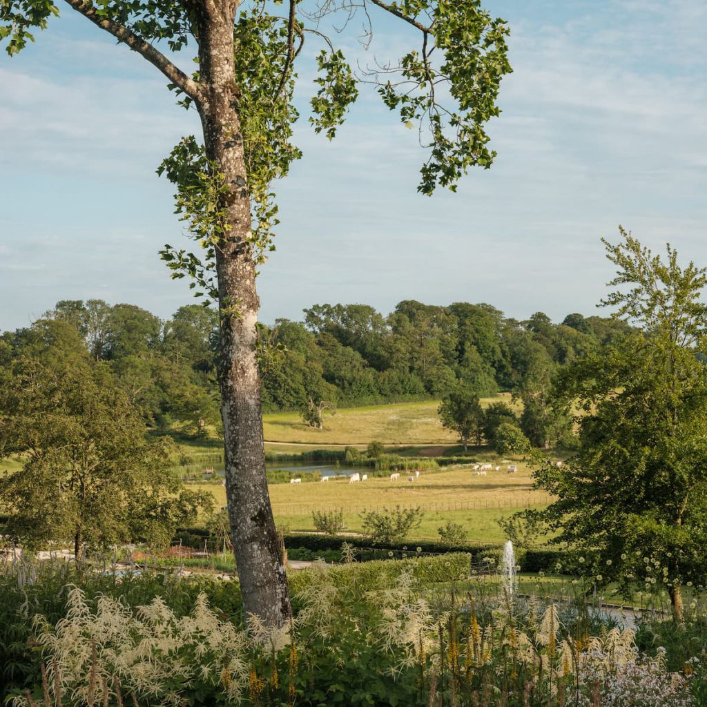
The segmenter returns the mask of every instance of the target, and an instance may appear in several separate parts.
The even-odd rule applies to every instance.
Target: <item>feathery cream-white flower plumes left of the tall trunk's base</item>
[[[35,631],[47,658],[50,691],[59,687],[71,703],[103,703],[112,694],[103,691],[110,693],[117,682],[152,704],[177,706],[178,686],[200,681],[220,685],[225,700],[235,704],[247,686],[252,640],[218,619],[203,594],[191,614],[179,617],[160,598],[131,612],[101,596],[93,612],[74,587],[66,617],[53,627],[37,617]],[[18,697],[14,707],[26,703]]]

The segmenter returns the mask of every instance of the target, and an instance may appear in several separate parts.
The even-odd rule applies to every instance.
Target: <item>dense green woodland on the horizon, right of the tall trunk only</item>
[[[277,320],[268,340],[281,361],[264,376],[264,402],[339,405],[440,397],[459,385],[481,397],[547,387],[556,368],[626,333],[625,322],[543,312],[519,322],[488,304],[405,300],[387,317],[368,305],[314,305],[303,322]]]

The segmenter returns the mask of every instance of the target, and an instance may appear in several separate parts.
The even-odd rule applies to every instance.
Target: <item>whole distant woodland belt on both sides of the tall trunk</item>
[[[542,312],[526,321],[488,304],[405,300],[384,316],[368,305],[314,305],[301,322],[260,327],[265,411],[308,400],[337,406],[436,398],[455,387],[481,397],[510,391],[542,406],[554,371],[600,349],[627,325]],[[6,356],[54,347],[105,363],[158,428],[218,426],[218,315],[201,305],[168,320],[129,304],[62,300],[27,329],[0,337]]]

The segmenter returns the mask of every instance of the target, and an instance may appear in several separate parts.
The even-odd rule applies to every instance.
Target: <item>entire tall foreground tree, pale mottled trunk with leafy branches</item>
[[[419,123],[428,148],[419,190],[431,194],[438,185],[455,189],[469,167],[489,168],[493,161],[484,126],[498,115],[499,85],[510,71],[508,28],[479,0],[64,3],[144,57],[168,79],[178,103],[199,112],[203,142],[183,139],[160,173],[176,185],[177,211],[201,247],[167,246],[163,257],[174,277],[191,277],[199,294],[218,300],[226,492],[243,603],[267,624],[281,624],[290,604],[265,475],[255,275],[277,223],[271,182],[300,156],[291,143],[298,115],[292,96],[303,43],[309,38],[324,47],[310,122],[331,139],[358,88],[341,49],[323,35],[322,21],[337,13],[351,21],[360,13],[370,37],[378,13],[417,33],[419,46],[399,64],[376,66],[363,79],[378,82],[380,97],[404,124]],[[8,53],[21,51],[33,30],[58,13],[52,0],[2,0],[0,40]],[[196,52],[194,74],[160,52],[160,41],[173,55]]]

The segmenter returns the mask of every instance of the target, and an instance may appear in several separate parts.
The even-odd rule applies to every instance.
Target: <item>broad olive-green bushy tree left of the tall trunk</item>
[[[105,549],[135,539],[163,545],[209,508],[168,470],[170,445],[148,440],[141,411],[109,370],[79,354],[14,358],[0,370],[0,457],[22,455],[0,481],[10,534],[30,549],[71,542]]]

